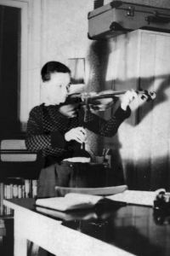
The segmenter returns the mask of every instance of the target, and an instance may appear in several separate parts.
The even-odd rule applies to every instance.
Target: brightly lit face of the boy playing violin
[[[71,75],[69,73],[51,73],[51,79],[43,84],[46,86],[48,101],[52,105],[65,102],[69,94],[70,83]]]

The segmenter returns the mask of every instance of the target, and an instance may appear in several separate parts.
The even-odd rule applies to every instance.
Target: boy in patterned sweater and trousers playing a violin
[[[85,168],[89,155],[81,151],[86,141],[86,131],[93,131],[105,137],[113,137],[124,119],[130,116],[128,107],[137,97],[134,90],[122,96],[120,108],[109,120],[86,113],[84,109],[69,109],[67,97],[70,92],[71,71],[58,61],[49,61],[42,67],[43,90],[46,100],[31,110],[26,131],[26,147],[33,152],[42,151],[45,168],[39,177],[38,197],[55,196],[55,186],[75,187],[72,173]],[[88,166],[89,168],[89,166]]]

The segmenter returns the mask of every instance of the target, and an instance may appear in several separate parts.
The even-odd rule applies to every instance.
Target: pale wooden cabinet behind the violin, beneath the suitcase
[[[103,147],[119,156],[129,189],[170,190],[170,34],[138,30],[107,49],[105,88],[154,90],[156,99],[135,100],[131,117]]]

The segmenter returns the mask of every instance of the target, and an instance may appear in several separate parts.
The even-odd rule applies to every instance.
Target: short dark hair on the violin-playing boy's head
[[[58,61],[49,61],[43,67],[41,71],[42,81],[49,81],[51,79],[51,73],[71,73],[71,70],[64,64]]]

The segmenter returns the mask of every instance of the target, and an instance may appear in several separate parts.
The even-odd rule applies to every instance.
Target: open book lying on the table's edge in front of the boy
[[[50,217],[62,220],[105,219],[113,211],[127,203],[112,201],[104,196],[67,194],[65,197],[55,197],[37,200],[36,210]]]

